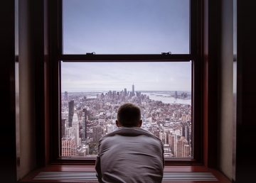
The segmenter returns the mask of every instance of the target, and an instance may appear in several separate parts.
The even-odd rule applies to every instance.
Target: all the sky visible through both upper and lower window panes
[[[189,0],[63,0],[65,54],[189,52]],[[191,91],[191,62],[62,63],[62,91]]]

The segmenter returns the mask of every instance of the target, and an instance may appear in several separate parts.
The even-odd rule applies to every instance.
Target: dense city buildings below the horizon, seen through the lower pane
[[[152,91],[153,92],[153,91]],[[86,94],[86,96],[85,96]],[[164,144],[165,157],[192,157],[191,105],[164,104],[141,91],[107,91],[69,93],[61,101],[61,156],[93,157],[97,155],[98,141],[117,126],[117,110],[126,102],[139,106],[142,128],[156,135]],[[69,95],[69,96],[68,96]],[[174,91],[174,98],[185,96]]]

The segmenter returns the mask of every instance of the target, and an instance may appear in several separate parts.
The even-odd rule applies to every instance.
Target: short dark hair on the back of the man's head
[[[125,127],[137,126],[141,119],[141,111],[138,106],[126,103],[117,111],[117,121]]]

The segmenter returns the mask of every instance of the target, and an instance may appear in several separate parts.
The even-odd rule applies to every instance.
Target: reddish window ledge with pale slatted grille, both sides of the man
[[[185,177],[186,176],[186,177]],[[203,165],[166,166],[163,182],[221,182],[230,183],[227,177],[217,170]],[[95,167],[92,165],[49,165],[29,173],[20,182],[97,182]]]

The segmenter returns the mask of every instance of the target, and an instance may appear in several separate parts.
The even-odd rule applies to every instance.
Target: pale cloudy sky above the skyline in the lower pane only
[[[62,62],[62,92],[191,91],[191,62]]]

